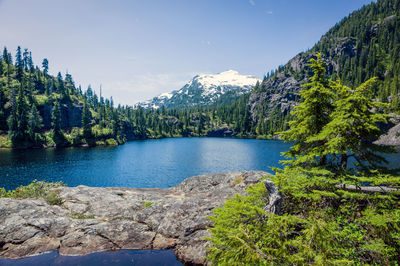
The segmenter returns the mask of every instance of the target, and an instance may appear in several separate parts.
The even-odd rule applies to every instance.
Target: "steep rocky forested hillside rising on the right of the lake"
[[[253,122],[262,134],[285,129],[290,110],[299,100],[301,84],[310,77],[308,60],[317,52],[328,63],[327,75],[343,84],[358,86],[378,77],[374,98],[399,112],[400,1],[379,0],[362,7],[332,27],[309,51],[269,73],[250,96]]]

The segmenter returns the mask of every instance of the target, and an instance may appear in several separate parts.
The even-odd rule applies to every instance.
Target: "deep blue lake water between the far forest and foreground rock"
[[[200,174],[270,171],[289,147],[277,140],[170,138],[117,147],[0,150],[0,187],[14,189],[38,179],[68,186],[166,188]]]

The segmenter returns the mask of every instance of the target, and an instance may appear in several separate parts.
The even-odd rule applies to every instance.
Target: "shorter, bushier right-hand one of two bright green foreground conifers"
[[[342,168],[343,171],[347,170],[348,160],[352,157],[363,169],[382,167],[386,160],[377,152],[393,149],[373,143],[383,133],[379,123],[386,124],[390,117],[381,113],[381,110],[387,110],[389,104],[373,100],[371,87],[376,82],[377,78],[369,79],[354,90],[341,81],[333,83],[339,99],[335,101],[331,121],[319,134],[307,140],[324,143],[315,149],[314,156],[339,155],[340,160],[333,160],[332,164],[336,161],[334,168]]]

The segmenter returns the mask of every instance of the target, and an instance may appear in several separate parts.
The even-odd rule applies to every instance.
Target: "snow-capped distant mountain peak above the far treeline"
[[[241,75],[235,70],[228,70],[218,74],[199,74],[193,77],[181,89],[162,93],[151,100],[138,103],[145,109],[185,108],[204,106],[216,103],[224,95],[225,101],[235,99],[250,92],[260,79]]]

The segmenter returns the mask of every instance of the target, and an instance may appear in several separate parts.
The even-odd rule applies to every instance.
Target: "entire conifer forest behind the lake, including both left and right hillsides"
[[[377,77],[372,97],[399,112],[400,0],[379,0],[331,28],[309,51],[268,73],[253,92],[212,105],[179,109],[114,106],[70,74],[48,74],[49,62],[35,66],[31,52],[0,56],[0,146],[121,144],[126,140],[236,136],[271,138],[287,130],[301,84],[312,75],[310,58],[320,52],[327,76],[358,86]]]

